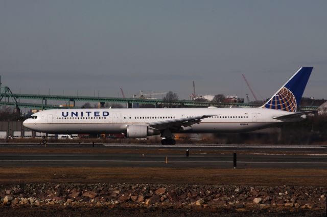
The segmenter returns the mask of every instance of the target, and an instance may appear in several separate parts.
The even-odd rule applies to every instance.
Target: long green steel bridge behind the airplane
[[[26,103],[20,102],[20,99],[40,100],[41,103]],[[63,101],[67,106],[48,104],[49,100]],[[202,102],[193,100],[177,100],[165,101],[162,99],[143,99],[143,98],[118,98],[118,97],[91,97],[91,96],[65,96],[65,95],[44,95],[44,94],[17,94],[12,93],[9,87],[2,88],[0,94],[0,106],[15,106],[17,110],[20,108],[31,108],[36,110],[48,110],[53,108],[80,108],[75,106],[76,102],[98,102],[101,107],[105,103],[126,103],[127,107],[131,108],[134,103],[138,104],[152,104],[154,107],[258,107],[258,104],[250,103],[214,103]],[[72,106],[71,106],[72,105]],[[317,111],[318,106],[301,106],[300,111]]]

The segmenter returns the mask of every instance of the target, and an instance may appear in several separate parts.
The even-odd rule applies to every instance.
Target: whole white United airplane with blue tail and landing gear
[[[174,145],[174,133],[253,131],[306,119],[310,112],[296,111],[312,69],[300,68],[264,105],[255,108],[60,108],[37,112],[23,125],[54,134],[125,133],[127,138],[160,134],[162,145]]]

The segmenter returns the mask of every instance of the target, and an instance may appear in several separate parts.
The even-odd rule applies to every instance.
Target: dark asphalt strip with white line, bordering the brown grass
[[[167,160],[167,161],[166,161]],[[1,153],[1,167],[232,168],[232,154]],[[327,155],[238,154],[238,168],[327,169]]]

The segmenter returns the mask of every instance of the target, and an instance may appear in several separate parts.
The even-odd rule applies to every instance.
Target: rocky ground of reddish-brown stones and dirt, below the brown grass
[[[1,185],[2,216],[324,216],[326,187],[189,184]]]

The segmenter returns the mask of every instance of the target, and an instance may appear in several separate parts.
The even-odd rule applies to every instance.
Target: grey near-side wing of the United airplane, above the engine
[[[212,116],[216,116],[216,115],[202,115],[202,116],[196,116],[190,118],[180,118],[175,120],[159,121],[159,122],[150,123],[149,126],[157,130],[164,130],[167,128],[179,129],[180,127],[188,127],[193,124],[198,124],[201,122],[202,119]]]

